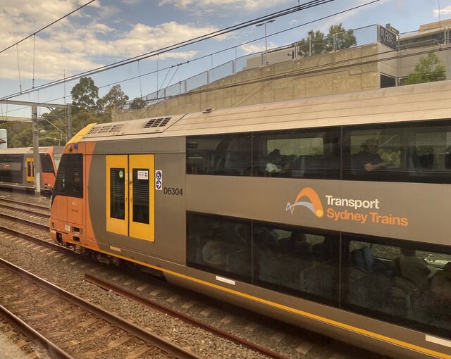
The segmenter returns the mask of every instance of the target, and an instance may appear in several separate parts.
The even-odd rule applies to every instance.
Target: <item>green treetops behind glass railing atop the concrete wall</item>
[[[299,56],[319,55],[335,50],[349,49],[357,45],[354,30],[346,30],[342,24],[332,25],[327,36],[323,32],[310,30],[307,37],[297,43]]]

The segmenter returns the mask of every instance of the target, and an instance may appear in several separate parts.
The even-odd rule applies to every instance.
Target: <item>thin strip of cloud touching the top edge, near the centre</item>
[[[202,11],[208,13],[211,11],[221,11],[225,8],[230,9],[245,9],[246,11],[253,11],[263,8],[272,8],[280,4],[292,3],[290,0],[162,0],[160,5],[170,4],[180,9],[187,9],[190,11]]]

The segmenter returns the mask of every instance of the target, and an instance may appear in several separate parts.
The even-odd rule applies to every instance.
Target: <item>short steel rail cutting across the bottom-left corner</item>
[[[42,346],[45,350],[47,350],[47,353],[51,356],[51,358],[55,359],[73,359],[73,356],[66,353],[66,351],[63,351],[63,349],[56,346],[56,344],[52,343],[49,339],[47,339],[45,336],[37,332],[35,329],[30,327],[30,325],[27,325],[23,320],[21,320],[19,317],[11,313],[8,309],[6,309],[4,306],[0,305],[0,317],[3,317],[5,320],[11,323],[13,327],[16,327],[16,329],[25,335],[28,339],[30,339],[33,343],[38,344],[39,346]]]

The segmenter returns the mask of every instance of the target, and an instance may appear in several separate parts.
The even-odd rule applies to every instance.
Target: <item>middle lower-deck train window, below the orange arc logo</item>
[[[253,239],[259,285],[338,305],[338,237],[254,222]]]

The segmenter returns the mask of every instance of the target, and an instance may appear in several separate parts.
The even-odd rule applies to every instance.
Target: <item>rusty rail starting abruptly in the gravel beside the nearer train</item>
[[[202,322],[201,320],[197,320],[194,317],[190,317],[189,315],[186,315],[185,313],[181,313],[178,310],[174,310],[173,308],[170,308],[168,306],[163,306],[162,304],[157,303],[155,301],[150,301],[149,299],[144,298],[143,296],[139,296],[135,293],[132,293],[131,291],[128,291],[127,289],[123,289],[123,288],[120,288],[109,282],[105,282],[103,279],[100,279],[99,277],[94,277],[93,275],[89,275],[89,274],[85,273],[85,280],[87,282],[95,284],[107,291],[113,291],[113,293],[116,293],[120,296],[123,296],[132,301],[140,303],[144,306],[159,310],[162,313],[172,315],[173,317],[177,317],[178,319],[183,320],[183,322],[186,322],[190,325],[194,325],[195,327],[202,328],[215,335],[222,336],[223,338],[233,341],[236,344],[246,346],[247,348],[250,348],[253,351],[263,353],[264,355],[267,355],[271,358],[287,359],[287,357],[285,357],[284,355],[281,355],[279,353],[271,351],[270,349],[264,348],[263,346],[259,346],[258,344],[252,343],[252,341],[247,341],[246,339],[242,339],[239,336],[230,334],[229,332],[226,332],[225,330],[218,329],[212,325],[208,325],[208,324]]]

